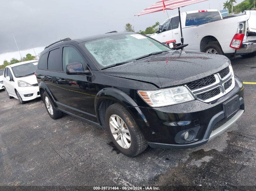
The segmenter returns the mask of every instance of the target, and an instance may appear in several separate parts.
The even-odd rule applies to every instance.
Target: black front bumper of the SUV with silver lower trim
[[[234,95],[239,96],[240,110],[225,118],[223,103]],[[244,87],[235,78],[234,89],[212,103],[194,100],[167,107],[139,107],[147,121],[137,120],[148,145],[153,148],[193,148],[205,144],[231,127],[244,113]],[[137,118],[138,119],[138,118]],[[222,123],[224,121],[224,124]],[[221,123],[217,129],[216,123]],[[191,141],[180,137],[185,132],[194,132]]]

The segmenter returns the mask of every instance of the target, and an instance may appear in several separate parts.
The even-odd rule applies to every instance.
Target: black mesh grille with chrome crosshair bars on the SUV
[[[214,76],[215,81],[211,80],[212,76]],[[186,86],[191,90],[194,96],[203,102],[211,102],[214,101],[228,92],[230,92],[234,88],[234,73],[231,65],[224,68],[220,72],[202,78],[203,80],[199,79],[196,81],[189,82]],[[201,84],[198,81],[211,81],[212,83]],[[201,82],[200,81],[200,82]],[[191,84],[199,84],[200,86],[195,87]]]

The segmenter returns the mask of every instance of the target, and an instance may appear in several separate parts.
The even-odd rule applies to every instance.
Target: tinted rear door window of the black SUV
[[[54,49],[49,52],[48,70],[62,71],[60,48]]]

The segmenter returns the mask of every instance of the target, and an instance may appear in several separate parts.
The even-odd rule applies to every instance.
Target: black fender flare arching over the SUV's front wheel
[[[130,110],[130,108],[134,108],[136,110],[137,116],[141,116],[141,118],[145,122],[146,126],[149,127],[149,123],[148,123],[147,119],[145,118],[144,114],[139,109],[137,103],[135,103],[135,101],[131,97],[129,97],[125,92],[123,92],[117,88],[103,88],[102,90],[100,90],[97,93],[97,95],[95,97],[95,101],[94,101],[94,109],[95,109],[96,116],[97,116],[97,119],[99,122],[100,122],[100,120],[99,120],[99,116],[98,116],[98,109],[100,107],[101,102],[104,100],[114,100],[116,102],[119,102],[123,106],[127,107],[128,110]],[[130,110],[130,112],[131,112],[131,114],[134,114],[134,111],[132,112]]]

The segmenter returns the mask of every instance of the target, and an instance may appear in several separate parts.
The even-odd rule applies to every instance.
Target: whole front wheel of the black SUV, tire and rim
[[[114,126],[111,125],[111,124],[114,124],[112,118],[115,118],[115,117],[116,118],[119,117],[124,122],[123,124],[124,129],[121,130],[121,132],[118,130],[118,128],[116,128],[117,126],[115,126],[114,128]],[[115,122],[117,121],[118,120],[116,120]],[[135,120],[133,119],[131,114],[125,109],[125,107],[123,107],[121,104],[114,103],[113,105],[107,108],[106,114],[105,114],[105,123],[106,123],[105,125],[107,126],[108,134],[112,142],[115,144],[118,150],[123,154],[125,154],[126,156],[134,157],[140,154],[141,152],[145,151],[145,149],[148,147],[148,143],[144,138],[138,125],[135,123]],[[119,126],[119,129],[121,129],[121,127],[122,125]],[[118,132],[113,134],[112,132],[114,131],[118,131]],[[130,141],[125,136],[130,137]],[[116,141],[116,138],[118,139],[118,141]],[[125,138],[126,138],[126,143],[128,144],[125,143]]]

